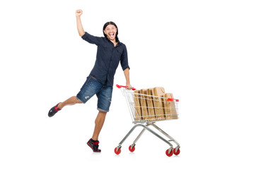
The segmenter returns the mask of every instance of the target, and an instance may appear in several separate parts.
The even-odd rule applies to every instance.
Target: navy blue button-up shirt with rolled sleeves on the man
[[[86,32],[82,39],[90,44],[98,46],[97,56],[91,75],[100,83],[107,86],[113,86],[115,70],[119,63],[122,65],[122,70],[129,68],[127,48],[122,42],[118,42],[116,46],[110,39],[105,37],[95,37]]]

